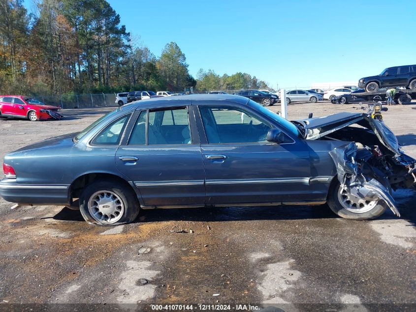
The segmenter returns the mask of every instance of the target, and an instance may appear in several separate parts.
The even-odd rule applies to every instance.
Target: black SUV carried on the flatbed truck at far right
[[[358,87],[376,92],[384,87],[408,87],[416,90],[416,65],[389,67],[380,75],[361,78]]]

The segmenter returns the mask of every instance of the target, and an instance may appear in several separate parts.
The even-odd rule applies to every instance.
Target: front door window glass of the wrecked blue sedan
[[[265,143],[271,129],[252,113],[230,106],[199,106],[209,144]]]

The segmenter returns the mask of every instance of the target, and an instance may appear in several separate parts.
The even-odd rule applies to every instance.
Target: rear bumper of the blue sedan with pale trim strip
[[[69,205],[69,184],[21,184],[15,179],[0,180],[0,197],[26,205]]]

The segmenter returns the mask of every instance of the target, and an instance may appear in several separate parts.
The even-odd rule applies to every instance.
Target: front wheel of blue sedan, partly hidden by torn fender
[[[329,188],[328,206],[340,217],[352,220],[374,219],[382,215],[386,209],[381,200],[366,201],[350,194],[341,188],[338,180]]]

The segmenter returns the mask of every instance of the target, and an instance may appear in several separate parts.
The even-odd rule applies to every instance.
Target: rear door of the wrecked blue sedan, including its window
[[[205,204],[201,148],[190,107],[137,112],[131,134],[117,150],[117,168],[139,189],[144,206]]]

